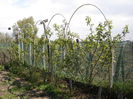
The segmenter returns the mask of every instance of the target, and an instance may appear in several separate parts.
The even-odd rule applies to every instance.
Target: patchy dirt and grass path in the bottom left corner
[[[9,72],[0,71],[0,99],[50,99],[44,92],[30,89],[23,79],[10,77]]]

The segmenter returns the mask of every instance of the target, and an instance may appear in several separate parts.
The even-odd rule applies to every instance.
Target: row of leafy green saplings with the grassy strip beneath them
[[[55,41],[52,41],[50,43],[47,39],[44,41],[39,38],[33,39],[34,41],[36,41],[34,42],[34,44],[37,44],[34,45],[36,46],[36,48],[37,46],[44,45],[43,43],[45,43],[45,45],[49,45],[52,48],[52,51],[54,53],[53,56],[48,56],[49,53],[44,53],[46,56],[48,56],[48,63],[51,62],[49,61],[49,57],[52,58],[50,69],[41,69],[36,66],[28,65],[26,64],[26,62],[19,60],[18,48],[11,50],[13,52],[11,53],[11,61],[8,65],[5,65],[5,69],[19,75],[20,77],[24,77],[30,83],[33,83],[33,85],[40,86],[41,84],[45,83],[50,84],[51,86],[53,86],[52,89],[47,89],[50,90],[50,94],[54,93],[63,95],[62,97],[64,98],[67,96],[69,97],[74,95],[78,96],[79,94],[85,94],[85,99],[124,99],[125,97],[130,99],[131,97],[133,97],[133,90],[131,88],[132,82],[114,83],[113,88],[110,88],[109,84],[107,84],[106,86],[106,83],[102,86],[92,83],[93,80],[95,80],[94,78],[101,76],[97,75],[99,71],[102,72],[103,69],[105,69],[107,70],[106,73],[108,73],[105,74],[105,76],[110,74],[112,48],[115,47],[115,43],[121,41],[121,37],[125,36],[125,34],[128,32],[128,27],[126,26],[124,28],[122,35],[117,35],[112,40],[112,25],[110,22],[99,24],[95,29],[96,34],[93,34],[93,24],[90,22],[90,18],[86,18],[86,21],[87,25],[90,28],[90,34],[83,42],[79,43],[79,41],[74,41],[73,38],[75,38],[75,35],[73,35],[72,33],[68,33],[68,38],[64,39],[61,31],[63,29],[60,26],[56,25],[55,30],[59,38]],[[48,34],[51,35],[51,33],[47,33],[47,35]],[[21,38],[21,41],[23,40],[25,41],[25,43],[27,42],[27,44],[30,44],[30,40],[28,38],[27,41],[26,38]],[[16,45],[14,47],[16,47]],[[36,51],[36,49],[34,50]],[[48,48],[46,48],[46,51],[47,50]],[[41,53],[41,51],[39,52]],[[60,60],[60,55],[62,52],[66,52],[65,58],[63,59],[63,64],[62,60]],[[89,57],[86,57],[86,53],[88,53]],[[80,63],[80,61],[82,63]],[[55,64],[56,71],[53,71]],[[59,72],[57,72],[58,70]],[[67,73],[70,75],[62,76],[62,73],[60,73],[62,71],[65,72],[65,75]],[[81,77],[79,77],[78,75],[80,75]],[[81,79],[83,81],[81,81]],[[84,80],[87,80],[87,82],[89,83],[85,82]],[[55,91],[54,88],[57,88],[59,90]]]

